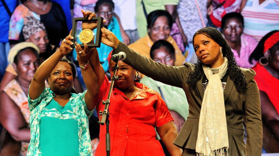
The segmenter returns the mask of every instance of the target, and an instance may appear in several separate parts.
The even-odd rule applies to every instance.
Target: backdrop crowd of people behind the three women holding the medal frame
[[[239,66],[256,72],[263,121],[262,153],[279,153],[279,0],[1,0],[0,155],[11,151],[26,155],[31,79],[68,36],[72,18],[83,17],[81,9],[107,20],[103,26],[129,48],[172,66],[196,63],[193,35],[206,26],[217,28]],[[110,78],[107,57],[113,48],[101,43],[96,49]],[[73,52],[65,57],[74,63],[77,78],[73,84],[82,93],[87,88],[77,55]],[[183,89],[141,73],[140,77],[166,102],[179,132],[189,114]],[[97,121],[95,111],[89,121],[93,153],[99,143]],[[166,149],[164,152],[169,155]]]

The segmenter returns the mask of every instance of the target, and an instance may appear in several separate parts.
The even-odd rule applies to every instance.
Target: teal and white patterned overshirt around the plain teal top
[[[94,109],[89,111],[85,105],[84,94],[71,93],[70,103],[75,116],[78,117],[79,126],[79,155],[88,156],[92,155],[92,148],[90,142],[90,135],[88,129],[88,119],[93,114]],[[40,119],[42,117],[42,111],[45,106],[55,97],[52,90],[45,88],[43,93],[35,100],[31,100],[28,94],[28,104],[31,112],[30,115],[30,128],[31,128],[31,140],[28,147],[27,156],[41,156],[42,152],[40,149]],[[53,114],[55,115],[55,114]],[[68,118],[70,116],[53,116],[54,118]],[[70,117],[73,118],[73,117]]]

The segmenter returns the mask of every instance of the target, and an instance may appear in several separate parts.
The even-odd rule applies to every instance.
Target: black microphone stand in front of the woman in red
[[[109,88],[109,95],[107,97],[107,100],[103,100],[102,103],[105,105],[104,111],[99,111],[99,121],[98,124],[104,125],[106,123],[107,126],[107,133],[106,133],[106,151],[107,151],[107,156],[110,156],[110,135],[109,135],[109,104],[110,104],[110,97],[112,93],[112,88],[114,85],[114,81],[118,80],[118,76],[116,76],[116,72],[118,70],[118,61],[115,61],[116,64],[114,66],[114,74],[111,78],[111,84]],[[102,119],[101,119],[102,116]]]

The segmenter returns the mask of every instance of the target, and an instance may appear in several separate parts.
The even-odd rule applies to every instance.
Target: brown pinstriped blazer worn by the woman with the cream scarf
[[[187,149],[192,149],[193,151],[196,148],[200,108],[204,95],[202,89],[203,77],[197,82],[196,89],[198,90],[198,95],[196,95],[186,83],[189,72],[194,69],[193,64],[185,63],[184,66],[174,67],[156,63],[151,59],[139,55],[139,53],[134,52],[132,49],[129,49],[122,42],[119,43],[114,54],[120,51],[125,52],[127,55],[124,62],[144,75],[156,81],[183,88],[189,103],[189,115],[178,136],[174,140],[174,144],[185,149],[182,155],[191,155],[186,151]],[[254,80],[256,74],[252,69],[241,68],[241,70],[246,77],[246,93],[239,94],[237,92],[234,82],[230,80],[230,76],[227,78],[226,88],[224,90],[229,154],[230,156],[260,156],[262,151],[263,131],[259,90]],[[243,115],[245,116],[247,131],[246,147],[243,141]]]

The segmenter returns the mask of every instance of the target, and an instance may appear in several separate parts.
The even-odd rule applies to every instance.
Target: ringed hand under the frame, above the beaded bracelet
[[[80,44],[75,42],[77,46],[75,46],[76,52],[77,52],[77,61],[79,61],[79,64],[81,63],[87,63],[90,56],[92,55],[93,48],[88,48],[88,45],[84,43],[84,48],[81,48]]]

